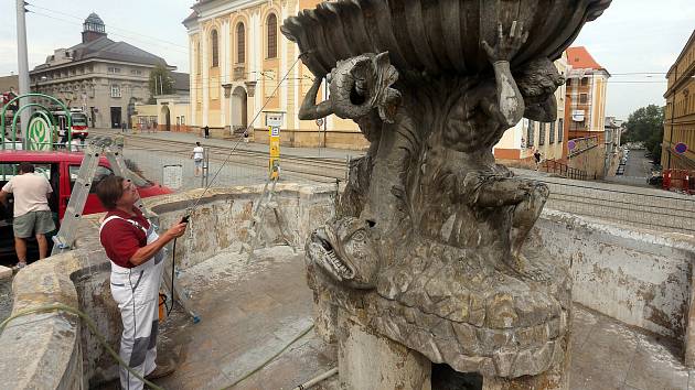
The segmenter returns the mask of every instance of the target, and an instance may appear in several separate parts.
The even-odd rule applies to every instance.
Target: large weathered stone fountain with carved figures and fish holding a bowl
[[[609,4],[339,0],[285,21],[316,76],[300,119],[371,142],[306,246],[343,388],[567,389],[571,279],[530,235],[548,188],[492,147],[556,119],[553,61]]]

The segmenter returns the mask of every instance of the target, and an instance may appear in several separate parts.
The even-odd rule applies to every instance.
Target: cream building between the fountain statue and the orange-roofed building
[[[567,75],[567,54],[555,61],[560,75]],[[510,165],[533,165],[533,153],[538,150],[543,160],[562,160],[566,149],[565,137],[565,86],[555,91],[557,119],[550,123],[536,122],[526,118],[507,130],[494,147],[494,156]]]

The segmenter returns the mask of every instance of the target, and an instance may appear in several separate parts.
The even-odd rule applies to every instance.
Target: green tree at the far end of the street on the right
[[[655,163],[661,163],[661,143],[664,138],[664,109],[655,105],[642,107],[630,113],[626,123],[627,142],[644,142]]]

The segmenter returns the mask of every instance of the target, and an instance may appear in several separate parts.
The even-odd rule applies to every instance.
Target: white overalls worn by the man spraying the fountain
[[[110,216],[101,223],[101,229],[114,219],[122,219],[141,229],[147,235],[147,243],[151,243],[159,235],[154,225],[145,227],[135,220]],[[120,337],[119,355],[141,376],[146,376],[157,367],[157,333],[159,325],[159,285],[164,270],[164,250],[160,250],[152,259],[133,268],[122,268],[111,261],[111,295],[124,323]],[[139,390],[143,382],[120,367],[120,386],[122,389]]]

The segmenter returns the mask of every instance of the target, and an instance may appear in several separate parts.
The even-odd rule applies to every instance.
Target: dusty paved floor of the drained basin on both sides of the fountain
[[[293,389],[335,367],[335,347],[312,331],[292,343],[311,326],[313,300],[302,256],[287,247],[257,253],[246,263],[236,251],[224,252],[185,271],[182,283],[202,322],[194,325],[177,313],[164,324],[160,350],[177,344],[183,353],[178,370],[158,384],[218,389],[250,373],[232,389]],[[674,340],[580,305],[574,311],[571,350],[571,390],[695,389],[695,371],[682,365]],[[338,389],[336,377],[316,389]]]

